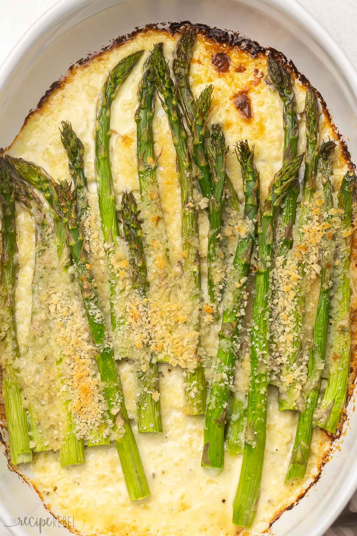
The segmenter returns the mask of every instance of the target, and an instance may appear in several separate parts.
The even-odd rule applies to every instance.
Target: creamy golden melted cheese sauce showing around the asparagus
[[[70,120],[73,129],[85,145],[85,169],[89,182],[92,214],[87,232],[101,241],[100,219],[96,207],[94,177],[94,122],[100,92],[108,71],[132,50],[152,49],[154,42],[164,42],[164,53],[172,58],[177,36],[166,32],[149,30],[139,33],[134,40],[111,51],[104,52],[89,63],[75,66],[65,82],[54,91],[40,110],[33,113],[10,148],[10,154],[35,161],[57,180],[69,178],[66,153],[60,142],[58,125]],[[230,55],[230,70],[217,73],[211,63],[212,55],[225,51]],[[144,56],[146,57],[147,54]],[[113,179],[118,196],[124,190],[138,190],[136,172],[136,128],[134,111],[137,106],[137,88],[142,76],[142,57],[132,75],[112,106],[110,158]],[[237,66],[244,66],[245,71]],[[257,70],[257,71],[255,71]],[[256,76],[256,72],[262,76]],[[255,144],[255,163],[260,171],[261,198],[264,199],[274,173],[281,166],[283,151],[282,105],[277,93],[265,83],[267,61],[265,56],[252,59],[248,53],[236,47],[212,43],[199,36],[194,48],[191,81],[193,90],[199,95],[206,85],[214,84],[212,123],[223,124],[227,143],[233,147],[239,139],[248,139]],[[303,110],[305,88],[295,80],[298,111]],[[245,120],[234,105],[234,95],[249,93],[252,119]],[[321,137],[334,137],[328,117],[322,115]],[[163,207],[163,217],[168,233],[170,258],[175,264],[180,259],[180,189],[174,166],[175,153],[166,115],[156,98],[154,118],[155,152],[158,157],[157,177]],[[305,123],[300,120],[299,150],[305,148]],[[227,157],[227,168],[234,185],[242,198],[239,165],[234,151]],[[336,151],[334,182],[338,188],[345,173],[346,163],[340,148]],[[17,318],[20,346],[26,344],[31,304],[32,250],[26,248],[33,243],[32,220],[20,213],[19,285],[17,289]],[[203,258],[207,250],[207,217],[200,214],[200,253]],[[226,251],[234,251],[234,232],[227,218],[224,229]],[[233,229],[234,230],[234,229]],[[233,245],[232,245],[233,244]],[[97,248],[90,252],[95,259],[94,272],[103,307],[108,315],[108,277],[104,252]],[[203,279],[207,267],[202,262]],[[316,289],[312,310],[308,311],[307,325],[312,324],[316,306]],[[251,306],[252,294],[248,298]],[[206,311],[209,315],[209,310]],[[203,327],[202,345],[215,354],[217,330]],[[244,362],[247,369],[247,362]],[[135,374],[133,366],[126,360],[120,363],[126,406],[131,418],[135,417]],[[246,382],[246,375],[245,375]],[[239,383],[239,378],[236,379]],[[183,378],[178,367],[160,366],[160,388],[164,433],[162,435],[139,435],[134,432],[145,467],[151,497],[140,503],[130,503],[127,497],[123,473],[114,446],[86,449],[86,463],[81,466],[61,468],[58,455],[41,452],[34,456],[33,481],[45,495],[49,507],[59,515],[73,516],[74,525],[83,534],[131,535],[156,534],[170,536],[179,534],[258,534],[264,531],[277,511],[291,504],[309,485],[317,474],[317,467],[328,450],[330,442],[320,429],[314,430],[311,455],[305,479],[300,483],[285,485],[284,478],[294,440],[297,415],[278,412],[277,393],[269,391],[267,446],[259,509],[251,531],[237,532],[231,523],[231,510],[236,491],[241,456],[225,456],[225,470],[218,476],[201,468],[203,444],[203,418],[188,417],[182,409]]]

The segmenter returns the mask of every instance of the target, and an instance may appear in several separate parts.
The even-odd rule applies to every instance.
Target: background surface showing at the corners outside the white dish
[[[295,0],[286,0],[294,2]],[[16,45],[22,35],[57,0],[0,0],[0,65]],[[355,0],[299,0],[312,13],[344,50],[357,69],[357,4]],[[254,37],[254,36],[253,36]],[[350,511],[357,511],[357,498],[350,504]],[[341,527],[343,525],[343,528]],[[340,528],[330,530],[326,536],[357,535],[357,513],[346,514],[341,519]],[[0,536],[10,536],[10,532],[0,522]]]

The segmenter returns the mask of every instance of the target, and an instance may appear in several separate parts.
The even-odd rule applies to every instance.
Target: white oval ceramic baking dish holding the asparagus
[[[282,50],[321,91],[340,132],[357,154],[357,72],[337,44],[294,0],[62,0],[25,34],[0,69],[0,124],[3,146],[67,68],[135,26],[191,20],[239,31],[263,46]],[[321,536],[357,488],[357,414],[348,407],[340,449],[323,468],[317,484],[273,525],[275,536]],[[94,506],[95,508],[95,506]],[[65,512],[63,512],[65,514]],[[0,518],[51,518],[40,498],[0,456]],[[75,523],[75,520],[74,520]],[[38,535],[38,526],[13,526],[17,536]],[[42,534],[68,534],[44,527]],[[217,535],[218,536],[218,535]]]

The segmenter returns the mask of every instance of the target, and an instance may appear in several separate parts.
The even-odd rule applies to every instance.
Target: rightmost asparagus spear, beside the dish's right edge
[[[347,382],[350,375],[350,254],[352,204],[355,195],[356,177],[348,171],[343,178],[338,201],[341,215],[341,228],[337,229],[337,256],[332,272],[335,295],[332,298],[330,313],[330,346],[326,355],[327,385],[318,408],[317,426],[336,433],[341,411],[346,401]]]

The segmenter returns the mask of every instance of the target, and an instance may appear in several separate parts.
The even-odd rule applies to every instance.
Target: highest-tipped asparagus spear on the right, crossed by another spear
[[[273,54],[268,56],[268,72],[270,79],[283,102],[284,153],[283,164],[294,158],[298,152],[299,122],[296,113],[296,98],[292,88],[290,73],[281,63],[276,61]],[[286,256],[292,248],[292,228],[295,223],[299,183],[296,181],[287,192],[282,207],[282,219],[278,225],[284,226],[285,233],[279,248],[279,256]]]

